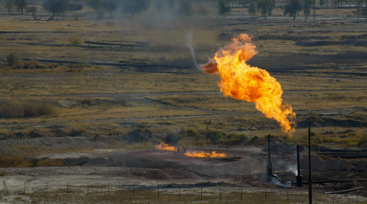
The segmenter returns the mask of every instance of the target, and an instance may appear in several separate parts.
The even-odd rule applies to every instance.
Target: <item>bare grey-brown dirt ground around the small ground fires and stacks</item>
[[[267,189],[269,201],[273,199],[273,202],[277,203],[276,200],[279,198],[276,196],[284,199],[288,192],[295,203],[302,203],[308,192],[307,184],[302,188],[295,187],[294,184],[289,188],[282,186],[286,181],[295,180],[295,146],[276,141],[272,142],[271,159],[273,172],[282,179],[282,185],[266,182],[264,176],[267,162],[266,144],[239,148],[185,147],[186,151],[217,151],[227,155],[227,158],[190,158],[182,152],[109,148],[111,144],[122,145],[120,136],[102,136],[99,140],[91,137],[65,137],[10,139],[0,142],[2,152],[11,152],[13,146],[38,146],[40,149],[38,153],[30,152],[30,156],[40,160],[54,158],[66,165],[1,169],[3,174],[1,180],[6,185],[4,190],[7,190],[7,193],[0,195],[1,203],[56,204],[64,203],[66,198],[76,199],[72,203],[99,203],[101,195],[106,194],[110,196],[109,199],[118,199],[118,196],[124,195],[126,197],[124,199],[132,203],[170,203],[172,201],[166,199],[177,197],[179,187],[182,188],[183,197],[196,194],[194,198],[197,198],[200,189],[204,188],[204,197],[209,203],[219,202],[216,196],[219,188],[224,202],[238,202],[238,192],[242,189],[244,195],[245,192],[246,195],[260,194],[258,200],[252,201],[247,198],[247,201],[263,203],[262,194]],[[74,149],[70,149],[71,147]],[[85,150],[86,147],[92,149]],[[52,149],[68,149],[68,151],[55,153]],[[367,165],[363,165],[364,163],[359,162],[360,169],[352,170],[348,168],[355,164],[353,161],[323,159],[316,154],[312,155],[313,180],[363,179],[367,176]],[[304,181],[308,180],[307,164],[307,149],[301,147],[301,173],[304,175]],[[328,168],[328,164],[332,164],[332,168]],[[366,184],[367,182],[357,181],[313,184],[313,192],[317,203],[328,203],[330,195],[324,195],[325,192]],[[155,198],[154,192],[158,185],[161,188],[161,197]],[[133,189],[137,196],[140,194],[139,199],[131,196]],[[80,199],[86,195],[91,196],[88,199],[97,200]],[[356,196],[356,193],[335,195],[334,199],[335,203],[349,203],[355,200]],[[364,191],[360,192],[359,202],[367,202],[366,196]],[[279,202],[283,202],[282,199]],[[200,200],[196,202],[204,202]],[[244,201],[246,202],[246,199]],[[110,203],[112,200],[104,202]]]

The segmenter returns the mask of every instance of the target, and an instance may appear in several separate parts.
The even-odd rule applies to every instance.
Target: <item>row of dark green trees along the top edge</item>
[[[28,6],[28,0],[2,0],[4,7],[8,13],[12,13],[12,9],[16,8],[20,14],[23,14],[23,9],[32,13],[32,16],[37,19],[37,7]],[[210,1],[210,0],[207,0]],[[230,13],[231,7],[236,5],[248,5],[248,12],[252,16],[260,13],[266,20],[266,17],[272,15],[275,8],[276,0],[212,0],[218,2],[219,14],[226,16]],[[87,4],[95,10],[98,18],[102,18],[106,13],[120,12],[128,16],[134,16],[147,10],[150,6],[155,7],[159,11],[163,7],[177,9],[177,13],[184,16],[191,16],[193,9],[191,4],[195,0],[44,0],[42,7],[51,15],[49,20],[53,20],[56,15],[65,13],[68,10],[80,10],[82,5]],[[349,6],[354,3],[355,10],[353,14],[357,16],[357,22],[361,16],[365,17],[367,22],[367,0],[330,0],[334,5]],[[319,0],[319,5],[329,5],[329,0]],[[284,15],[289,15],[295,20],[299,12],[303,11],[304,18],[307,20],[311,15],[311,10],[315,14],[317,7],[316,0],[287,0],[284,5],[281,5]]]

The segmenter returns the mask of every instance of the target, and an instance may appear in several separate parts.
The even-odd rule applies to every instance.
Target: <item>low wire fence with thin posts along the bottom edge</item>
[[[86,182],[80,184],[77,182],[66,182],[62,184],[60,182],[49,183],[46,181],[44,184],[39,185],[39,182],[32,184],[32,181],[24,181],[24,191],[22,186],[14,186],[12,184],[6,186],[9,181],[3,180],[3,192],[4,196],[14,194],[33,195],[41,193],[46,197],[50,194],[67,194],[80,196],[80,194],[86,197],[96,197],[105,195],[110,198],[116,196],[123,196],[124,198],[134,199],[164,199],[164,198],[184,198],[191,199],[192,201],[241,201],[241,202],[253,202],[253,203],[274,203],[274,204],[289,204],[289,203],[307,203],[308,195],[307,191],[301,188],[295,189],[268,189],[268,188],[249,188],[243,187],[225,187],[225,186],[192,186],[192,185],[110,185],[110,183],[101,182]],[[36,186],[36,187],[35,187]],[[10,188],[9,188],[10,187]],[[66,188],[65,188],[66,187]],[[245,191],[244,191],[245,190]],[[154,193],[155,191],[155,193]],[[112,194],[110,194],[112,192]],[[154,196],[155,194],[155,196]],[[352,194],[315,194],[317,203],[332,203],[332,204],[361,204],[367,203],[366,197],[361,197],[358,192]],[[91,198],[93,199],[93,198]],[[93,199],[94,200],[94,199]],[[319,201],[318,201],[319,200]]]

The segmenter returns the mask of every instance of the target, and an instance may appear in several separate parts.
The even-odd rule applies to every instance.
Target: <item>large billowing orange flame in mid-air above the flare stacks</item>
[[[232,41],[221,48],[214,59],[202,65],[202,70],[208,74],[220,74],[218,86],[225,96],[255,102],[257,110],[278,121],[282,131],[292,136],[296,126],[295,113],[291,105],[283,102],[280,83],[266,70],[246,64],[257,54],[251,36],[240,34]]]

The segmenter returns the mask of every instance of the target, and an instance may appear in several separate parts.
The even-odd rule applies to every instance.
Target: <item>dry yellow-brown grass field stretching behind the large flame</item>
[[[111,140],[102,145],[103,148],[136,150],[154,148],[164,139],[174,137],[179,139],[179,146],[241,148],[262,145],[263,137],[271,134],[283,144],[306,145],[307,125],[311,123],[315,147],[367,148],[367,27],[365,22],[357,23],[348,15],[352,9],[318,8],[315,22],[312,16],[307,21],[301,15],[295,21],[285,18],[279,8],[264,21],[249,17],[246,8],[235,8],[227,18],[193,16],[196,21],[175,18],[169,23],[149,18],[149,13],[132,20],[117,17],[96,20],[90,17],[89,8],[80,11],[78,20],[66,13],[54,21],[47,21],[46,17],[35,21],[30,14],[7,15],[4,8],[0,11],[0,60],[4,62],[3,66],[0,63],[1,140],[13,141],[10,139],[14,138],[28,142],[25,139],[86,136],[98,141],[101,136],[118,136],[126,140]],[[291,104],[296,113],[297,128],[293,137],[283,133],[276,121],[258,112],[254,103],[224,97],[217,85],[219,76],[207,75],[195,68],[186,46],[190,32],[199,64],[205,64],[234,35],[253,35],[258,54],[249,64],[268,70],[282,85],[283,100]],[[135,46],[90,44],[88,47],[84,41]],[[6,65],[10,52],[23,59],[76,63],[56,63],[52,68],[45,68],[50,63],[41,61],[44,68],[12,68]],[[22,66],[25,63],[23,60]],[[128,139],[134,134],[142,137],[138,143]],[[59,148],[31,143],[4,147],[6,151],[0,152],[0,164],[7,169],[0,169],[0,178],[10,178],[17,171],[11,168],[64,165],[57,158],[42,160],[44,154],[95,156],[98,155],[95,148],[86,144]],[[320,173],[319,177],[324,178],[325,174]],[[134,176],[132,180],[147,179],[138,174]],[[23,177],[17,179],[18,182]],[[67,179],[73,180],[73,177]],[[99,178],[99,181],[104,179]],[[241,185],[246,183],[243,181]],[[256,188],[256,184],[251,185]],[[238,201],[240,187],[225,189],[223,200],[241,203]],[[330,196],[325,197],[324,188],[319,187],[318,203],[330,203]],[[137,197],[131,197],[130,187],[115,188],[110,197],[99,195],[101,191],[106,193],[105,184],[91,186],[95,195],[89,197],[85,196],[84,184],[71,188],[74,188],[72,194],[57,188],[46,196],[42,186],[18,198],[7,195],[7,199],[25,203],[116,203],[122,200],[125,203],[223,203],[217,198],[217,187],[210,189],[203,201],[198,199],[197,189],[191,188],[183,191],[182,198],[176,198],[177,189],[167,190],[155,198],[156,192],[144,190],[137,191]],[[249,190],[244,197],[251,198],[247,201],[254,204],[263,203],[263,188],[272,187],[261,185],[261,189]],[[22,190],[17,188],[17,191]],[[270,196],[272,203],[287,202],[283,188],[272,191],[272,195],[279,196],[276,199]],[[290,202],[301,202],[298,198],[305,198],[307,191],[294,190],[290,195]],[[5,202],[6,196],[1,197],[1,202]],[[338,195],[337,199],[345,203],[354,201],[356,195]]]

